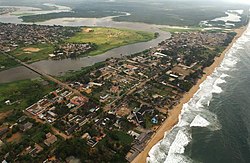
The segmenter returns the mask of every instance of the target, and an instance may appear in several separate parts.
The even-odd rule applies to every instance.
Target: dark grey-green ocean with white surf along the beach
[[[183,106],[149,163],[250,163],[250,27]]]

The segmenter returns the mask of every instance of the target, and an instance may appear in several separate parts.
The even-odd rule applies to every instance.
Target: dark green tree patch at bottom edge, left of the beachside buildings
[[[94,148],[87,145],[86,140],[72,138],[63,141],[57,147],[56,157],[66,160],[74,156],[82,162],[126,162],[125,156],[130,149],[133,138],[122,131],[110,131]],[[93,161],[95,160],[95,161]]]

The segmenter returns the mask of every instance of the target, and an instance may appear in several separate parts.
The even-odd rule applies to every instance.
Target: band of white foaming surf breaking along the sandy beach
[[[221,85],[226,83],[229,72],[235,69],[238,62],[236,52],[250,41],[250,27],[227,52],[219,67],[200,85],[193,98],[183,105],[179,122],[170,131],[165,132],[148,153],[148,163],[188,163],[193,162],[185,155],[185,147],[192,141],[191,128],[205,127],[209,130],[220,130],[221,125],[217,116],[208,110],[213,94],[223,92]]]

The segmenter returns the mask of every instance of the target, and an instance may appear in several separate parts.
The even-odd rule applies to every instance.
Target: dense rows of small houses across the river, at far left
[[[18,46],[59,43],[80,28],[0,23],[0,50],[9,52]]]

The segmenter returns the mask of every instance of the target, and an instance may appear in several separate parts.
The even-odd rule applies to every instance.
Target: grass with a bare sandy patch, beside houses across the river
[[[36,62],[49,57],[53,53],[54,46],[51,44],[38,44],[17,48],[10,54],[24,62]]]

